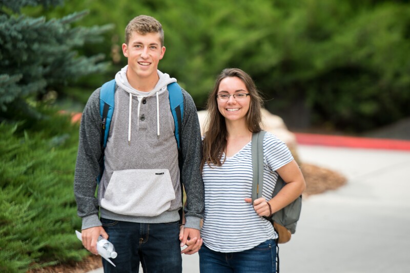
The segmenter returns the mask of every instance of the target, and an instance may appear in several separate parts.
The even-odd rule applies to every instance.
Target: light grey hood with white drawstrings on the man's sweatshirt
[[[157,70],[159,80],[155,85],[154,89],[149,92],[141,92],[133,88],[130,83],[128,82],[127,78],[127,69],[128,65],[122,68],[120,71],[117,72],[115,75],[115,82],[116,84],[129,93],[130,95],[130,104],[129,104],[129,117],[128,117],[128,143],[131,142],[131,119],[132,119],[132,97],[137,97],[138,99],[138,108],[137,108],[137,116],[139,116],[139,108],[141,106],[141,100],[146,97],[156,96],[157,101],[157,136],[159,138],[159,100],[158,95],[160,93],[167,91],[167,86],[172,83],[176,82],[175,78],[171,78],[167,73],[162,73],[161,71]],[[138,119],[139,125],[139,119]]]

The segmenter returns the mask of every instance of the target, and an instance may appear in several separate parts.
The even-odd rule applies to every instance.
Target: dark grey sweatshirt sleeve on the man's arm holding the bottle
[[[88,99],[81,116],[77,161],[74,173],[74,196],[77,215],[83,219],[81,229],[100,226],[98,201],[95,198],[96,177],[100,172],[101,118],[99,114],[99,89]]]

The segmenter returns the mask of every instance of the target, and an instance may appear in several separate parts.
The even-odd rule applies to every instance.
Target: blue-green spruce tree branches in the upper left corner
[[[21,12],[28,6],[48,9],[63,2],[0,0],[0,119],[38,115],[33,106],[45,91],[106,69],[104,55],[80,56],[76,49],[101,41],[112,26],[70,26],[87,11],[50,20]]]

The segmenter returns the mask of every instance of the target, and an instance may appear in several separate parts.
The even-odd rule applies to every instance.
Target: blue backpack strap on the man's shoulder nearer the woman
[[[170,106],[172,116],[174,117],[175,123],[175,139],[178,145],[178,150],[180,149],[179,137],[182,130],[182,116],[183,116],[183,95],[181,87],[176,82],[172,82],[168,85],[168,93],[170,98]]]

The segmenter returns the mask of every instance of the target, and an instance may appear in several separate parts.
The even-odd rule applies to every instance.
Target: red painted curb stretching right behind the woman
[[[386,149],[410,151],[410,141],[385,138],[317,135],[294,133],[299,144],[322,145],[362,149]]]

